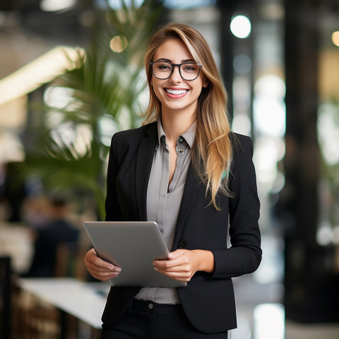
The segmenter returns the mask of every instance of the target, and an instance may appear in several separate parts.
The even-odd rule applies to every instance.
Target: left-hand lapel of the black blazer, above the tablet
[[[157,143],[157,124],[150,124],[136,154],[136,203],[139,220],[147,220],[147,189]]]

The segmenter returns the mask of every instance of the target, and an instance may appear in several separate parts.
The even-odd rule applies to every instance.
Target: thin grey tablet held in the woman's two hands
[[[153,269],[153,260],[169,253],[156,222],[84,222],[97,256],[121,267],[112,286],[184,287]]]

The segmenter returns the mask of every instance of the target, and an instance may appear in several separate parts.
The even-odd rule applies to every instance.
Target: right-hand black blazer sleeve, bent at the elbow
[[[237,137],[235,137],[238,139]],[[228,249],[212,251],[215,271],[210,278],[233,278],[252,273],[261,262],[261,234],[258,227],[260,202],[252,162],[253,143],[239,136],[234,147],[229,186],[230,242]]]

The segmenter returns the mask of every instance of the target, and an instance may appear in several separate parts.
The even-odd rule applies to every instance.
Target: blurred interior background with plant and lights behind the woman
[[[109,141],[141,125],[142,43],[168,21],[206,37],[232,130],[254,141],[263,260],[233,280],[229,337],[339,338],[339,1],[107,2],[0,4],[0,338],[100,335],[18,282],[57,196],[79,236],[52,278],[94,283],[82,222],[105,218]]]

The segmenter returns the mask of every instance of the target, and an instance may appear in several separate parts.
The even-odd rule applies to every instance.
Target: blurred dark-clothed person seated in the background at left
[[[56,268],[59,245],[77,246],[80,231],[68,220],[69,206],[64,198],[51,198],[48,203],[48,221],[34,230],[34,255],[28,277],[52,277]]]

